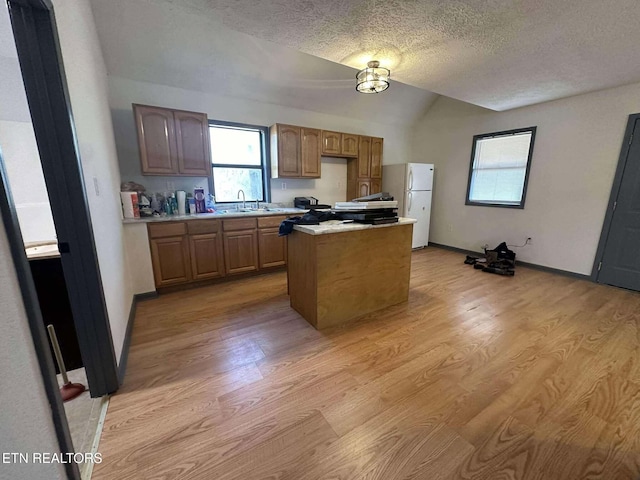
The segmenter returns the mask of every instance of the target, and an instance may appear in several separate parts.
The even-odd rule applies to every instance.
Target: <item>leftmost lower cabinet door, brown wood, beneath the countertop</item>
[[[151,239],[151,260],[156,287],[177,285],[191,280],[186,235]]]

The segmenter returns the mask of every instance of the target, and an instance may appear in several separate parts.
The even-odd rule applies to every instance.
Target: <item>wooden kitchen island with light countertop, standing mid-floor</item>
[[[291,307],[320,330],[406,301],[414,223],[296,225],[288,238]]]

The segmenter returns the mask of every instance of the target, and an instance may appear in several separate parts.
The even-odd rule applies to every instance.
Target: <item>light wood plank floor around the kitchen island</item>
[[[640,294],[462,261],[322,332],[282,272],[140,303],[93,478],[640,478]]]

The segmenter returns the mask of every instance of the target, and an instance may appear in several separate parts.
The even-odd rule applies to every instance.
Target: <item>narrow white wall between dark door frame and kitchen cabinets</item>
[[[107,101],[107,72],[88,0],[57,0],[54,6],[104,296],[119,359],[133,287],[123,236],[120,172]]]

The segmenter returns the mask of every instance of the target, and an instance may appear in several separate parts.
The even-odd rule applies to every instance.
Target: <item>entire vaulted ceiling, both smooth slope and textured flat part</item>
[[[330,102],[326,91],[344,88],[354,98],[348,108],[370,108],[352,89],[356,69],[371,59],[391,68],[386,102],[409,117],[435,94],[506,110],[640,81],[637,0],[93,0],[93,6],[110,70],[135,65],[175,76],[197,66],[221,87],[258,76],[269,86],[265,95],[258,92],[265,85],[254,85],[253,93],[247,82],[235,87],[276,99],[284,88],[301,97],[285,100],[292,106],[312,105],[314,94]],[[140,46],[148,58],[135,52]],[[400,94],[391,99],[394,90]],[[347,108],[348,97],[334,98]]]

